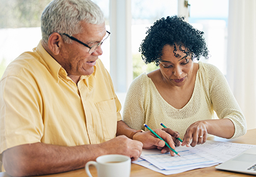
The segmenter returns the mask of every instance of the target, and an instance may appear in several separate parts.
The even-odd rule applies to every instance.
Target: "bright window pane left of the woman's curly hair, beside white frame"
[[[177,0],[132,0],[131,1],[131,44],[133,55],[133,79],[142,73],[149,73],[158,67],[142,61],[139,46],[146,37],[147,28],[162,17],[178,14]]]

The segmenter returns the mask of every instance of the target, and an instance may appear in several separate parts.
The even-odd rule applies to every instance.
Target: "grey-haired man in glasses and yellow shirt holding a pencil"
[[[142,146],[165,146],[121,120],[110,75],[98,59],[110,33],[96,4],[54,0],[44,9],[41,31],[38,46],[10,63],[0,82],[3,170],[12,176],[60,173],[99,155],[138,159]],[[168,133],[155,131],[175,148]],[[135,133],[146,135],[136,135],[142,143],[131,140]]]

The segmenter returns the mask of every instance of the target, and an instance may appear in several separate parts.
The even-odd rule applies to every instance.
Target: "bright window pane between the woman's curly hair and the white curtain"
[[[210,51],[209,60],[223,74],[226,74],[226,50],[228,31],[228,0],[189,0],[189,23],[204,31],[205,41]]]

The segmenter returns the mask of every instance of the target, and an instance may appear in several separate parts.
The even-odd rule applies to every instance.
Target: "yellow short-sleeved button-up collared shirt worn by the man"
[[[76,85],[40,42],[10,63],[0,85],[0,154],[20,144],[77,146],[115,137],[121,104],[99,59]]]

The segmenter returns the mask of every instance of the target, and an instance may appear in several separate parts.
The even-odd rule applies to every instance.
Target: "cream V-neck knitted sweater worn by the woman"
[[[198,120],[230,119],[235,128],[232,138],[246,133],[246,119],[242,114],[228,82],[220,70],[208,63],[199,62],[194,91],[189,102],[181,109],[173,108],[156,89],[147,74],[141,74],[131,83],[123,109],[123,121],[136,130],[168,128],[184,137],[187,128]]]

